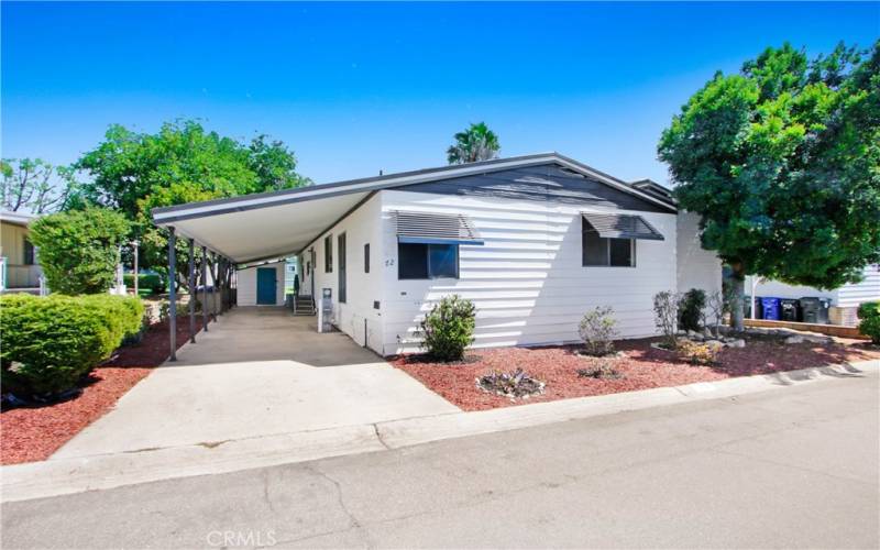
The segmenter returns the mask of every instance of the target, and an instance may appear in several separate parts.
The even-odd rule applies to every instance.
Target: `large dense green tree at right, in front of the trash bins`
[[[834,288],[880,261],[880,42],[809,59],[785,44],[718,73],[658,145],[703,245],[744,277]]]

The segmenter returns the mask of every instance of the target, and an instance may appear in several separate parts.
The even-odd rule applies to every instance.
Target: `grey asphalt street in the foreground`
[[[878,548],[876,372],[2,506],[10,548]]]

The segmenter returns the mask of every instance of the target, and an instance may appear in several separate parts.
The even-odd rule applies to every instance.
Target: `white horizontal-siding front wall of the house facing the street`
[[[414,331],[419,320],[447,294],[476,305],[474,346],[502,346],[576,341],[581,317],[596,306],[614,307],[623,338],[653,336],[652,297],[676,289],[672,213],[629,212],[666,237],[637,242],[636,267],[583,267],[580,212],[590,207],[396,190],[383,190],[380,197],[384,354],[417,350]],[[485,244],[460,248],[458,279],[398,280],[393,210],[466,215]],[[701,262],[707,270],[705,258]]]

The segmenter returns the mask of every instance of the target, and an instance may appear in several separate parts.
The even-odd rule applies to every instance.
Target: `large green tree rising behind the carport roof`
[[[165,123],[156,133],[112,125],[75,167],[89,176],[79,185],[79,201],[121,211],[133,223],[132,238],[143,243],[141,265],[160,272],[167,231],[153,226],[151,209],[310,184],[284,143],[265,135],[243,143],[193,120]],[[178,280],[185,279],[185,251],[180,243]]]

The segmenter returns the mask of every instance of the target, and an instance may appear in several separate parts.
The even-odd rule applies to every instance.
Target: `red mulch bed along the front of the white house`
[[[880,358],[880,350],[857,341],[840,341],[833,345],[809,342],[785,345],[751,340],[746,348],[724,349],[715,366],[695,366],[678,360],[671,352],[651,348],[652,341],[656,340],[617,342],[617,349],[625,356],[606,361],[610,361],[624,374],[620,380],[579,377],[578,369],[588,367],[600,360],[579,355],[575,346],[473,350],[466,361],[459,364],[435,363],[420,355],[403,355],[392,364],[464,410],[485,410]],[[546,382],[544,393],[514,402],[485,393],[474,384],[477,376],[492,370],[507,372],[517,367]]]

